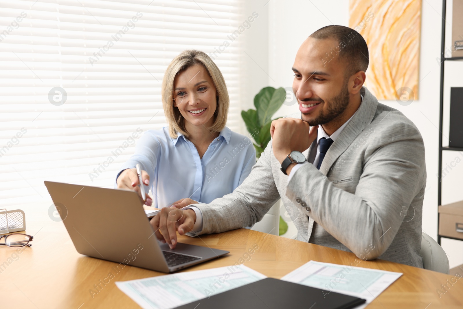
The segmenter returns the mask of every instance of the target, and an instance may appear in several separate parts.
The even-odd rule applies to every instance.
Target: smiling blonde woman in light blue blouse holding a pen
[[[135,154],[122,165],[117,188],[139,192],[136,164],[142,168],[146,204],[209,203],[232,193],[256,163],[250,139],[225,126],[230,100],[225,80],[210,57],[185,50],[169,64],[162,100],[169,126],[149,130]]]

